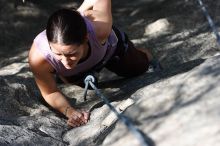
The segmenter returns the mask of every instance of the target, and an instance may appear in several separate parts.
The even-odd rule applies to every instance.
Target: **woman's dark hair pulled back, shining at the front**
[[[79,45],[85,41],[86,23],[76,10],[60,9],[49,17],[46,34],[49,42]]]

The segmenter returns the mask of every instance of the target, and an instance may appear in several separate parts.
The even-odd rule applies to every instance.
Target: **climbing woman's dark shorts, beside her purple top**
[[[123,77],[137,76],[146,72],[149,67],[147,55],[137,50],[124,32],[116,27],[113,27],[113,30],[118,37],[118,44],[105,67]]]

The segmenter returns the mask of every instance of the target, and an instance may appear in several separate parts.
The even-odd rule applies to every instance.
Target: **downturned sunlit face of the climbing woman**
[[[66,69],[73,69],[84,56],[85,45],[60,45],[49,43],[56,59],[60,60]]]

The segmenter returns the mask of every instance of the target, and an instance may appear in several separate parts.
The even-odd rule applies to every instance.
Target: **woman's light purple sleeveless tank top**
[[[89,19],[83,17],[88,31],[89,43],[91,46],[90,56],[83,62],[77,64],[74,69],[66,69],[61,61],[57,60],[50,50],[49,43],[46,36],[46,30],[42,31],[34,39],[34,44],[39,52],[43,54],[45,59],[53,66],[56,72],[62,76],[72,76],[82,72],[86,72],[103,59],[109,60],[113,55],[116,47],[118,38],[115,32],[112,30],[105,45],[101,45],[95,35],[94,27]]]

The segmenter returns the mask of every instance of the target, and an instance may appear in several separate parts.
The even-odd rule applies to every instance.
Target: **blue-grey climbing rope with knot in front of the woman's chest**
[[[126,116],[118,113],[118,111],[111,105],[111,103],[108,101],[108,99],[98,90],[98,88],[93,84],[95,82],[95,78],[92,75],[88,75],[85,80],[85,91],[84,91],[84,99],[86,99],[88,85],[90,85],[94,90],[97,96],[99,96],[105,104],[110,108],[111,111],[115,113],[115,115],[120,119],[127,128],[140,140],[141,146],[150,146],[147,144],[147,140],[144,137],[144,135],[140,132],[139,129],[137,129],[132,121],[130,121]]]

